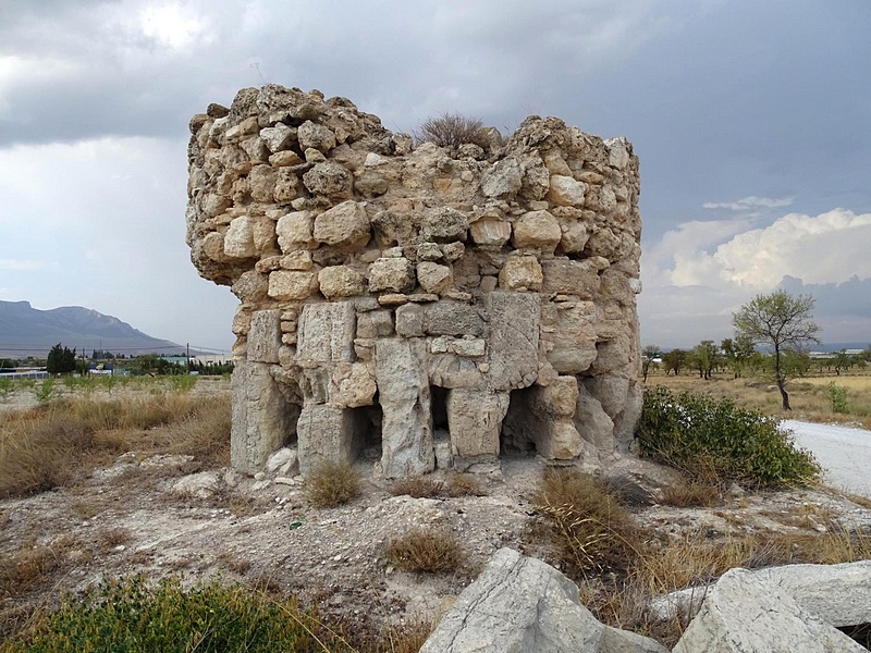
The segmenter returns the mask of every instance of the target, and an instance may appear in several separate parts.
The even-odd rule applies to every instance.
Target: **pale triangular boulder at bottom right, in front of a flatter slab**
[[[867,600],[867,592],[864,597]],[[729,569],[704,599],[675,653],[859,653],[866,649],[752,571]]]

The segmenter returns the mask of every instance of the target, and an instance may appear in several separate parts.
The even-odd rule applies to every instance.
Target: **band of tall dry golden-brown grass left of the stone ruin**
[[[229,398],[81,398],[9,412],[0,423],[0,496],[66,485],[133,448],[188,453],[204,463],[225,465]]]

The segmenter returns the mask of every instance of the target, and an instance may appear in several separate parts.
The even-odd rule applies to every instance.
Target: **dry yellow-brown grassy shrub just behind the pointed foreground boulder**
[[[547,469],[532,503],[550,526],[560,558],[575,578],[626,569],[639,551],[629,514],[599,479],[575,469]]]

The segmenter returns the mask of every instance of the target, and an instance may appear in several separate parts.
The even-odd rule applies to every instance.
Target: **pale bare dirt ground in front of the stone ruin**
[[[437,616],[501,546],[554,562],[547,544],[531,535],[537,517],[529,494],[542,460],[503,459],[501,470],[479,477],[484,496],[412,498],[391,494],[390,482],[377,473],[377,452],[368,453],[359,464],[363,495],[340,508],[314,508],[300,477],[256,480],[230,469],[201,469],[187,456],[137,452],[72,486],[2,500],[0,557],[49,552],[51,572],[14,596],[0,596],[0,603],[50,605],[60,591],[106,577],[181,574],[189,583],[268,580],[317,601],[328,615],[402,624]],[[795,518],[808,514],[871,528],[871,509],[833,492],[747,494],[714,509],[673,508],[655,503],[660,488],[671,482],[668,470],[627,458],[611,461],[608,475],[651,497],[652,505],[635,508],[651,535],[825,529]],[[415,527],[453,533],[466,565],[436,575],[394,569],[384,547]]]

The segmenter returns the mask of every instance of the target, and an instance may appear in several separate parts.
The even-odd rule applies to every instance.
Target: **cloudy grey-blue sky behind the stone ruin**
[[[643,344],[776,287],[871,342],[868,0],[2,0],[0,300],[228,349],[184,244],[187,122],[263,82],[393,131],[557,115],[641,159]]]

